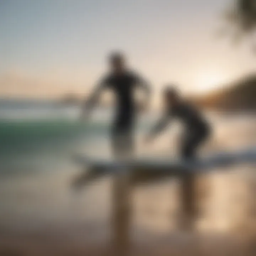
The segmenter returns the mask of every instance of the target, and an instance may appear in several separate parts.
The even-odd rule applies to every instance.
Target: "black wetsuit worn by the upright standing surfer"
[[[110,74],[102,80],[105,87],[116,95],[116,113],[112,125],[112,149],[114,153],[133,151],[133,128],[135,123],[134,92],[137,85],[145,85],[135,73]],[[148,89],[148,88],[147,88]]]

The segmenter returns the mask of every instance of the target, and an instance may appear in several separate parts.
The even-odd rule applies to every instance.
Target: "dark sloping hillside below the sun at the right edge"
[[[196,102],[206,108],[217,110],[256,110],[256,75],[247,76],[223,90],[218,90]]]

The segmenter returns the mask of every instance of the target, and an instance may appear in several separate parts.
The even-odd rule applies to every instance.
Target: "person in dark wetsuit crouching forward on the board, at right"
[[[194,159],[196,150],[210,135],[208,122],[193,105],[182,100],[175,87],[166,87],[164,103],[164,115],[146,137],[146,141],[151,141],[156,134],[165,129],[171,119],[178,119],[185,126],[181,157],[183,159]]]

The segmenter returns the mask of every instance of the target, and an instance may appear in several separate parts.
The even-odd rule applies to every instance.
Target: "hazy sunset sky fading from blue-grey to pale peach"
[[[256,71],[248,42],[218,38],[230,0],[0,0],[0,97],[88,94],[112,50],[155,92],[202,94]]]

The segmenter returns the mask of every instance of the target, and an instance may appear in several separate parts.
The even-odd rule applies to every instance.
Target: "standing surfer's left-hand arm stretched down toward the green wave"
[[[95,89],[91,93],[91,95],[84,101],[82,105],[82,113],[81,113],[82,119],[86,119],[89,117],[91,111],[98,103],[98,99],[100,98],[102,91],[106,88],[106,85],[107,84],[104,81],[99,82],[95,86]]]

